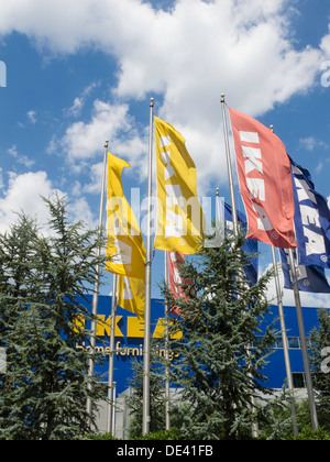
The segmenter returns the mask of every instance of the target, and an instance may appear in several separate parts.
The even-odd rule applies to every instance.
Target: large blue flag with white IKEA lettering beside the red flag
[[[309,172],[290,161],[299,265],[329,268],[330,210],[327,199],[315,190]]]

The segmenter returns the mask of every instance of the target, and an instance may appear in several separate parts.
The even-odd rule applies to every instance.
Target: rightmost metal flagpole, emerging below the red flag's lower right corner
[[[314,430],[317,430],[319,428],[319,422],[318,422],[318,415],[317,415],[315,396],[314,396],[312,380],[311,380],[310,364],[309,364],[309,358],[308,358],[308,348],[307,348],[307,340],[306,340],[306,331],[305,331],[300,293],[299,293],[299,287],[298,287],[298,278],[297,278],[297,271],[296,271],[293,249],[289,249],[289,265],[292,270],[292,280],[293,280],[297,319],[298,319],[298,326],[299,326],[299,334],[300,334],[301,352],[302,352],[304,369],[305,369],[305,376],[306,376],[306,386],[307,386],[307,393],[308,393],[311,427]]]

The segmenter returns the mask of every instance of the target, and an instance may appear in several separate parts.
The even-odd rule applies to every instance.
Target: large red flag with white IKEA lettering
[[[265,125],[229,109],[248,239],[280,249],[297,246],[292,166],[283,142]]]

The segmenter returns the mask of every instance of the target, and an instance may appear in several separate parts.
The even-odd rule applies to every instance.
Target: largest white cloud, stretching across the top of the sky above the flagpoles
[[[179,0],[164,12],[141,0],[2,1],[0,33],[16,30],[53,53],[94,46],[113,54],[117,94],[164,91],[170,112],[174,105],[191,116],[191,105],[197,116],[198,102],[212,107],[223,90],[231,103],[257,114],[308,89],[320,68],[320,48],[294,47],[292,4]],[[322,38],[323,51],[329,41]]]

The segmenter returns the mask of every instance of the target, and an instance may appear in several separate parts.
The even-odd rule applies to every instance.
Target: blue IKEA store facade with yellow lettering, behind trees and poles
[[[91,301],[91,297],[89,298]],[[110,320],[111,320],[111,297],[100,296],[98,306],[98,316],[100,323],[97,329],[97,353],[100,359],[103,359],[103,364],[96,365],[96,373],[103,376],[102,381],[108,382],[109,371],[109,353],[110,353]],[[299,329],[297,323],[296,308],[285,307],[285,321],[287,328],[287,336],[289,338],[289,354],[292,361],[293,373],[302,373],[304,363],[301,350],[299,346]],[[304,320],[307,336],[312,328],[318,326],[318,309],[304,308]],[[154,339],[161,339],[164,336],[164,300],[153,299],[152,307],[152,334]],[[265,318],[264,327],[272,323],[274,319],[278,319],[278,309],[273,307],[273,312]],[[279,321],[275,329],[280,331]],[[280,334],[278,336],[280,339]],[[117,395],[124,392],[130,386],[130,378],[132,377],[132,364],[134,361],[141,362],[143,360],[143,340],[144,326],[139,321],[133,314],[117,308],[116,318],[116,343],[114,343],[114,382],[117,383]],[[87,345],[77,345],[79,348],[88,348]],[[155,344],[155,351],[160,356],[165,356],[165,350]],[[282,388],[286,381],[286,371],[284,362],[283,345],[280,340],[277,345],[274,345],[273,354],[268,358],[268,365],[263,371],[268,377],[266,384],[270,388]]]

